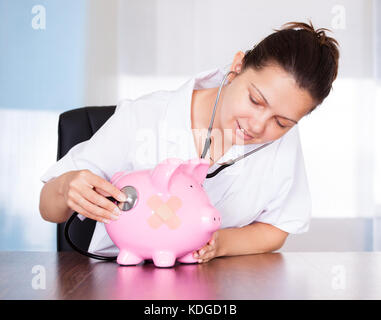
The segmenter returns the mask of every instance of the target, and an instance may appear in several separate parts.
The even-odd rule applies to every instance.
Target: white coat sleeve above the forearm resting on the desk
[[[279,144],[272,174],[274,196],[255,221],[271,224],[292,234],[307,232],[311,195],[298,127]]]

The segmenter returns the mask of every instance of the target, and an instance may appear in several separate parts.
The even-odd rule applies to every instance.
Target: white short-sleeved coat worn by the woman
[[[110,181],[118,171],[151,169],[166,158],[197,158],[191,129],[193,90],[219,87],[228,67],[201,72],[177,90],[120,101],[91,139],[74,146],[41,176],[41,181],[81,169]],[[218,163],[259,146],[233,145],[208,173],[217,169]],[[308,231],[311,197],[298,125],[271,145],[206,179],[203,186],[221,214],[221,228],[258,221],[288,233]],[[89,252],[117,251],[104,224],[97,222]]]

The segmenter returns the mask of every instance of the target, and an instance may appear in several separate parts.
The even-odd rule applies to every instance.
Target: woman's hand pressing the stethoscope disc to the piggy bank
[[[61,194],[69,208],[99,222],[109,223],[119,218],[120,209],[106,197],[118,201],[126,201],[126,197],[112,183],[87,169],[64,175]]]

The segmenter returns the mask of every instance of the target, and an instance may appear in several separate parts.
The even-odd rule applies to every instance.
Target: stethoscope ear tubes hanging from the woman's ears
[[[212,132],[214,116],[215,116],[215,114],[216,114],[217,103],[218,103],[218,100],[220,99],[221,89],[222,89],[222,87],[224,86],[225,81],[226,81],[226,78],[228,77],[228,75],[229,75],[230,73],[235,73],[235,74],[237,74],[237,72],[235,72],[235,71],[229,71],[229,72],[227,72],[227,73],[225,74],[224,78],[223,78],[222,81],[221,81],[220,88],[218,89],[218,93],[217,93],[216,102],[214,103],[213,114],[212,114],[212,118],[211,118],[211,120],[210,120],[210,124],[209,124],[209,128],[208,128],[208,134],[207,134],[207,137],[206,137],[206,140],[205,140],[205,144],[204,144],[204,150],[203,150],[203,152],[202,152],[202,154],[201,154],[201,158],[202,158],[202,159],[205,158],[206,153],[208,152],[208,150],[209,150],[209,148],[210,148],[210,144],[211,144],[211,142],[212,142],[212,140],[211,140],[211,138],[210,138],[210,135],[211,135],[211,132]],[[256,148],[256,149],[254,149],[254,150],[251,150],[251,151],[248,152],[248,153],[245,153],[245,154],[242,155],[242,156],[239,156],[239,157],[236,158],[236,159],[230,159],[230,160],[225,161],[225,162],[223,162],[223,163],[219,163],[219,164],[220,164],[220,167],[218,167],[218,168],[217,168],[216,170],[214,170],[212,173],[208,173],[208,174],[206,175],[206,179],[209,179],[209,178],[214,177],[214,176],[217,175],[219,172],[221,172],[223,169],[225,169],[225,168],[227,168],[227,167],[233,165],[233,164],[236,163],[237,161],[239,161],[239,160],[241,160],[241,159],[243,159],[243,158],[245,158],[245,157],[251,155],[252,153],[255,153],[255,152],[257,152],[257,151],[259,151],[259,150],[261,150],[261,149],[267,147],[268,145],[272,144],[273,142],[274,142],[274,141],[268,142],[268,143],[266,143],[266,144],[264,144],[264,145],[262,145],[262,146],[260,146],[260,147],[258,147],[258,148]]]

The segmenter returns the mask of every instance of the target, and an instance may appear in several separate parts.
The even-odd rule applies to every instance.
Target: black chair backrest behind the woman
[[[116,106],[83,107],[60,114],[58,120],[57,161],[76,144],[89,140],[112,116]],[[76,221],[77,220],[77,221]],[[83,250],[88,250],[96,221],[75,219],[70,238]],[[57,224],[57,251],[73,251],[64,236],[65,223]]]

